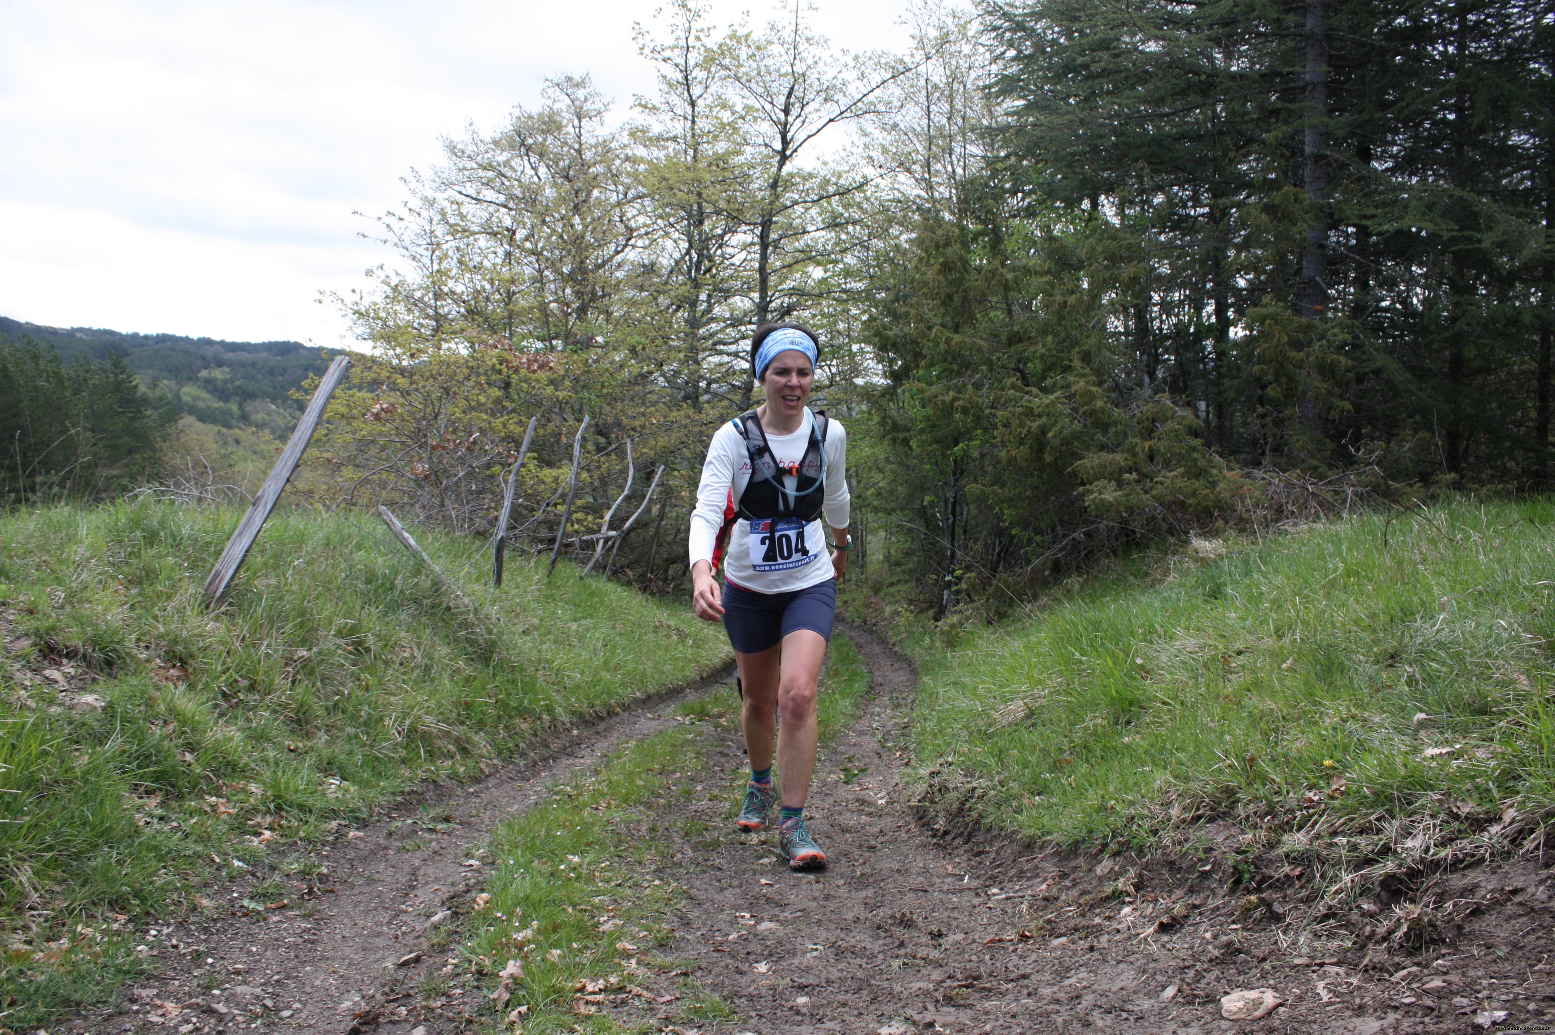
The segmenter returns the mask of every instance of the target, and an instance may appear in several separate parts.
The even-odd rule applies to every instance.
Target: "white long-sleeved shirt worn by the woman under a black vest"
[[[810,429],[815,416],[805,410],[799,430],[791,435],[767,434],[767,446],[773,458],[782,463],[799,463],[804,451],[810,444]],[[826,479],[823,488],[821,516],[832,528],[847,527],[849,494],[847,494],[847,432],[833,420],[826,429]],[[701,482],[697,485],[697,510],[690,516],[690,563],[712,561],[712,550],[723,527],[723,508],[734,490],[739,500],[751,480],[751,455],[740,437],[734,421],[725,421],[712,435],[708,444],[708,458],[701,465]],[[798,477],[784,476],[784,488],[793,491]],[[751,521],[737,518],[729,535],[729,544],[723,555],[723,573],[737,586],[762,594],[785,594],[796,589],[819,586],[832,578],[830,556],[823,544],[830,542],[821,519],[804,525],[802,536],[798,527],[779,530],[771,527],[757,528],[757,542],[751,549]],[[774,559],[773,542],[767,536],[776,536],[776,544],[782,547],[784,556]],[[809,559],[805,559],[805,556]],[[767,563],[764,563],[764,558]]]

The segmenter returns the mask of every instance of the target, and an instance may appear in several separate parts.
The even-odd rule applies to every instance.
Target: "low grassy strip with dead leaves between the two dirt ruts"
[[[868,687],[863,657],[837,636],[819,695],[823,743],[857,718]],[[709,741],[697,730],[737,729],[739,701],[709,693],[681,704],[676,720],[680,729],[608,755],[493,833],[488,858],[499,869],[443,971],[487,993],[477,1019],[526,1035],[656,1030],[661,1012],[675,1024],[736,1019],[678,960],[652,951],[672,940],[664,914],[678,900],[673,883],[653,876],[659,864],[675,842],[706,850],[731,836],[700,819],[676,824],[672,811],[706,793],[728,800],[732,819],[748,775],[740,768],[728,788],[709,774]]]

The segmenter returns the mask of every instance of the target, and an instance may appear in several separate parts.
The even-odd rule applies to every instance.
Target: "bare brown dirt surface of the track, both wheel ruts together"
[[[872,688],[860,720],[823,746],[816,766],[807,813],[832,866],[790,873],[773,833],[728,830],[726,802],[670,807],[672,825],[684,835],[662,876],[686,897],[664,954],[694,964],[695,981],[739,1018],[701,1027],[661,1021],[661,1030],[1378,1035],[1483,1030],[1476,1021],[1487,1015],[1501,1032],[1555,1030],[1541,1012],[1555,1007],[1539,1005],[1555,1001],[1549,956],[1541,959],[1543,950],[1555,950],[1547,920],[1532,940],[1524,932],[1515,943],[1518,956],[1482,951],[1501,937],[1485,922],[1477,940],[1469,925],[1455,946],[1367,968],[1359,953],[1305,959],[1289,931],[1236,923],[1232,886],[1216,870],[1174,875],[1157,867],[1124,898],[1115,861],[1008,841],[936,839],[913,819],[903,782],[913,668],[869,631],[840,628],[863,653]],[[334,890],[309,900],[311,908],[162,932],[163,968],[131,990],[121,1009],[67,1027],[168,1035],[459,1030],[456,1016],[415,1010],[414,990],[443,956],[431,946],[437,925],[429,929],[429,922],[484,881],[476,852],[491,827],[617,743],[670,726],[669,709],[714,682],[732,678],[580,727],[543,763],[407,799],[322,856],[330,872],[319,883]],[[714,692],[732,696],[718,685]],[[739,730],[709,737],[714,768],[732,779],[745,766]],[[428,814],[445,822],[421,824]],[[406,821],[417,821],[415,828]],[[406,850],[412,836],[423,844]],[[1549,875],[1543,866],[1524,869],[1507,895],[1521,897],[1527,911],[1543,909]],[[1177,903],[1191,909],[1158,923],[1185,912]],[[418,953],[425,956],[415,959]],[[1413,974],[1410,965],[1418,967]],[[219,976],[221,987],[202,988],[199,974],[207,985]],[[1221,996],[1239,988],[1272,988],[1283,1005],[1250,1023],[1222,1019]],[[152,1023],[149,1013],[169,1013],[165,1004],[187,1005]]]

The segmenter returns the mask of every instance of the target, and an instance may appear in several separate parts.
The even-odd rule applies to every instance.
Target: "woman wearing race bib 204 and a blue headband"
[[[816,684],[837,615],[837,580],[852,545],[847,437],[841,424],[805,407],[818,356],[819,339],[805,326],[756,329],[751,375],[767,401],[714,434],[690,519],[692,608],[708,622],[723,620],[740,667],[751,782],[737,825],[760,830],[779,799],[776,734],[778,850],[796,870],[826,866],[804,828],[804,799],[815,771]],[[723,550],[722,595],[712,577],[715,550]]]

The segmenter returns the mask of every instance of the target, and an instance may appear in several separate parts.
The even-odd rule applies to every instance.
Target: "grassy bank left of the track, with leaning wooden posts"
[[[0,518],[0,606],[31,640],[0,660],[0,1010],[48,999],[26,973],[61,931],[197,903],[213,852],[236,872],[728,657],[683,606],[522,561],[493,592],[479,544],[418,533],[471,614],[376,521],[303,513],[271,519],[207,612],[235,522],[151,502]],[[36,678],[67,664],[65,692]]]

